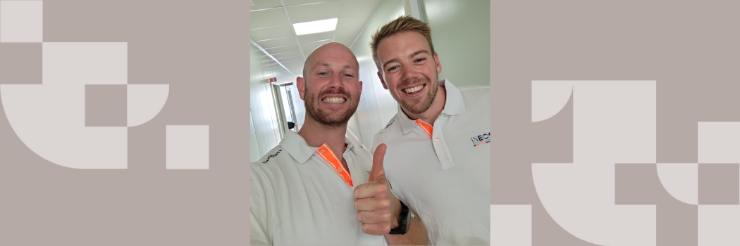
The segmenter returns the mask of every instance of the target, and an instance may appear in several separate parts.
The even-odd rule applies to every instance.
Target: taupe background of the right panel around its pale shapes
[[[739,7],[727,1],[492,2],[491,203],[532,205],[532,245],[591,245],[560,228],[531,185],[531,163],[570,163],[565,157],[572,153],[555,150],[572,146],[572,134],[538,130],[548,123],[568,131],[572,121],[555,115],[531,123],[531,81],[657,81],[656,162],[699,163],[697,122],[740,121],[740,74],[734,72],[740,33],[731,31]],[[572,119],[565,109],[559,114]],[[616,165],[617,188],[630,177],[643,184],[622,186],[617,202],[660,194],[639,203],[657,204],[656,244],[696,245],[697,206],[668,197],[657,186],[655,164],[646,164]],[[736,171],[731,175],[722,180],[737,179]],[[663,213],[676,216],[664,219]]]

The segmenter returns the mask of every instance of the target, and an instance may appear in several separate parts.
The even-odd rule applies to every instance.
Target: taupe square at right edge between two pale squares
[[[699,163],[699,204],[740,204],[740,165]]]

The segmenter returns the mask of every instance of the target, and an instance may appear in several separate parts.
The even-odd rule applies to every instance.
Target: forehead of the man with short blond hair
[[[398,55],[408,55],[407,53],[426,50],[431,53],[429,42],[424,35],[414,31],[406,31],[389,35],[377,45],[378,55],[384,60],[388,60]],[[387,58],[386,58],[387,57]]]

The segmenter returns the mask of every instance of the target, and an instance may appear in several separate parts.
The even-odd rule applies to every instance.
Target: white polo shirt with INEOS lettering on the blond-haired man
[[[432,245],[491,243],[491,89],[447,91],[434,127],[398,108],[375,134],[371,152],[388,146],[383,167],[391,188],[420,216]]]

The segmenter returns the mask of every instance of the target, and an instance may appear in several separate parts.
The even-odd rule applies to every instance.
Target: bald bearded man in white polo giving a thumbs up
[[[427,244],[418,219],[408,231],[391,230],[399,225],[391,211],[401,208],[377,168],[384,147],[372,160],[345,137],[362,92],[358,69],[357,58],[339,43],[324,44],[306,59],[296,81],[306,105],[303,127],[286,131],[280,145],[251,164],[252,245]]]

